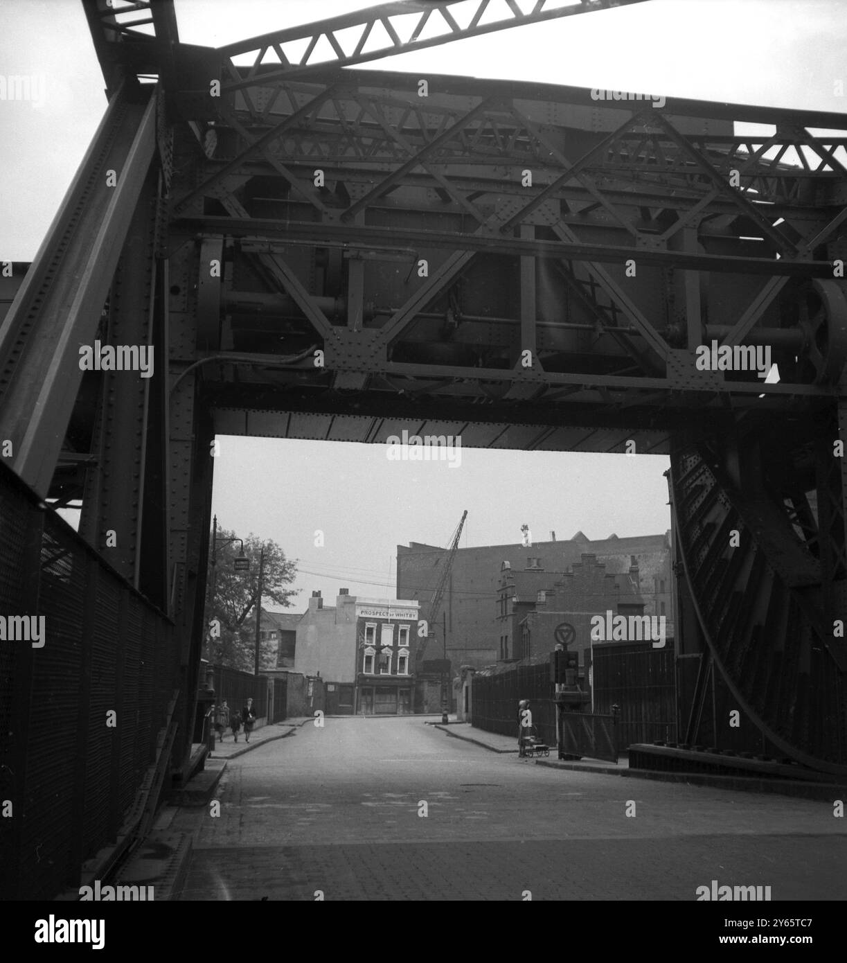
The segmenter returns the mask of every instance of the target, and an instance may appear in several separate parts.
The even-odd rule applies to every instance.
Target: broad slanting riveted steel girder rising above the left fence
[[[156,101],[122,89],[109,104],[36,260],[0,326],[0,434],[14,471],[42,496],[79,392],[156,145]]]

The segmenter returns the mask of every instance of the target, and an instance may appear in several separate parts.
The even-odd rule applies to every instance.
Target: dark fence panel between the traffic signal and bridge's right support
[[[668,640],[655,649],[644,642],[607,642],[593,647],[594,712],[620,706],[617,749],[637,742],[677,742],[675,651]]]

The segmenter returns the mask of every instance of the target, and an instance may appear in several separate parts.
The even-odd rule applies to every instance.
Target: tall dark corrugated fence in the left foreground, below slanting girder
[[[0,892],[53,898],[140,816],[179,647],[169,619],[2,464],[0,615]],[[39,624],[38,647],[20,638]]]

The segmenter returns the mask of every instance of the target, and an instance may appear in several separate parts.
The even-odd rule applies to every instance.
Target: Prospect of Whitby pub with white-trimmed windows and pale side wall
[[[321,677],[330,715],[413,711],[418,603],[312,592],[296,625],[295,671]]]

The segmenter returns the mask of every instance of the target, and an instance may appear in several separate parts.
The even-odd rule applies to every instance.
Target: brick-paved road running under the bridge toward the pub
[[[544,768],[420,717],[307,724],[231,762],[218,798],[174,823],[196,829],[184,899],[847,898],[829,803]]]

